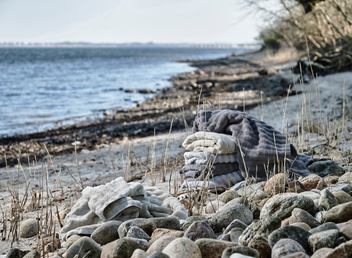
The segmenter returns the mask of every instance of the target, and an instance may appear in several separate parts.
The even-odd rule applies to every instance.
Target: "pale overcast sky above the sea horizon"
[[[253,42],[239,0],[0,0],[0,41]]]

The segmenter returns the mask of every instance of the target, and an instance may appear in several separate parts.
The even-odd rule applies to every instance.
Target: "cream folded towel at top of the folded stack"
[[[198,132],[186,138],[182,146],[194,152],[230,154],[236,152],[235,143],[230,135]]]

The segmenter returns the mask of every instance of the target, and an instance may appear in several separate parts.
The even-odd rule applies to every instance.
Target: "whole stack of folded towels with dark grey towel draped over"
[[[292,177],[310,174],[313,160],[297,154],[295,147],[274,127],[234,110],[199,111],[193,135],[183,146],[186,165],[179,171],[185,179],[182,189],[200,188],[211,192],[224,190],[247,176],[264,181],[283,170]]]

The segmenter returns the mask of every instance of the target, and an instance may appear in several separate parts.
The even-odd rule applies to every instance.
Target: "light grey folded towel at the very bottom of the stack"
[[[205,187],[208,188],[214,188],[214,189],[209,189],[209,192],[223,192],[225,188],[229,188],[233,185],[235,185],[236,183],[243,181],[243,177],[241,174],[241,171],[234,171],[230,174],[224,174],[224,175],[218,175],[218,176],[214,176],[214,178],[210,178],[209,180],[205,181]],[[191,189],[191,188],[197,188],[200,189],[201,186],[204,184],[203,180],[199,180],[199,181],[187,181],[187,179],[183,182],[183,184],[181,185],[181,189],[182,190],[187,190],[187,189]],[[188,188],[187,188],[188,185]],[[216,186],[216,190],[215,190],[215,186]],[[222,186],[222,187],[220,187]]]

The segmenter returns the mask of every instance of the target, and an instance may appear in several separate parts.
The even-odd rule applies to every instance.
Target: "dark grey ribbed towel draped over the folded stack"
[[[273,171],[276,167],[277,172],[278,160],[283,163],[285,155],[287,159],[295,160],[293,164],[286,162],[286,169],[301,176],[310,174],[304,168],[294,146],[284,135],[247,113],[234,110],[200,110],[194,121],[193,132],[204,131],[232,135],[243,177],[246,177],[247,170],[250,177],[256,177],[258,181],[266,180],[268,171]]]

